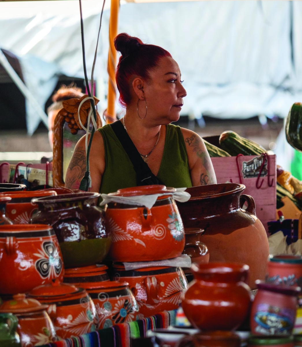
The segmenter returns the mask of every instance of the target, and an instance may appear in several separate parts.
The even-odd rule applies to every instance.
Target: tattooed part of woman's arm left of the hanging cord
[[[66,188],[79,188],[81,179],[86,171],[86,151],[84,147],[79,147],[69,162],[65,178]]]

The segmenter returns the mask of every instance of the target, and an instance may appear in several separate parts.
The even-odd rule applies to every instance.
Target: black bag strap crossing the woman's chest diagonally
[[[119,139],[121,145],[124,147],[124,150],[129,156],[133,164],[133,168],[137,176],[137,185],[146,186],[150,184],[163,184],[150,170],[148,164],[144,162],[141,158],[138,150],[136,149],[131,138],[127,134],[122,122],[117,120],[116,122],[110,124],[115,135]]]

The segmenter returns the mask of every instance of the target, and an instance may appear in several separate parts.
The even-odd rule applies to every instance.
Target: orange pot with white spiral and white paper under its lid
[[[109,194],[117,197],[165,194],[157,198],[151,209],[113,202],[106,205],[106,220],[112,236],[111,260],[153,261],[181,255],[184,229],[173,192],[174,188],[154,185],[125,188]]]

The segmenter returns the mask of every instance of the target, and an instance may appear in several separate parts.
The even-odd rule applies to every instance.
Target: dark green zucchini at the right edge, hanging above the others
[[[302,152],[302,104],[296,102],[288,112],[285,125],[287,142],[294,149]]]

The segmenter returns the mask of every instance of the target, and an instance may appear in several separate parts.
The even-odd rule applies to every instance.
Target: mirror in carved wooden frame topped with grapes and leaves
[[[87,98],[83,95],[81,99],[69,99],[63,101],[63,108],[59,111],[54,120],[53,127],[53,186],[64,187],[64,180],[68,164],[70,162],[74,148],[79,139],[86,134],[81,127],[81,123],[87,128],[87,118],[90,110],[90,100],[86,100],[78,114],[80,102]],[[98,99],[94,97],[95,104]],[[97,127],[102,126],[102,120],[98,112],[96,112]],[[90,126],[91,127],[91,126]]]

